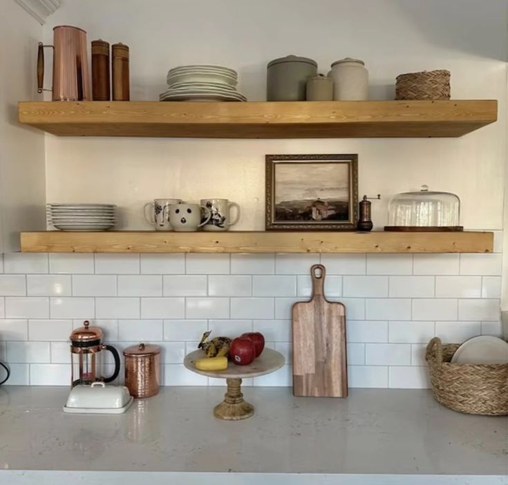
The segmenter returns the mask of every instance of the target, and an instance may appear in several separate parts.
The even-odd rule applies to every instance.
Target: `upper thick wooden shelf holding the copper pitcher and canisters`
[[[20,102],[19,121],[60,136],[459,137],[497,120],[493,99],[331,102]]]

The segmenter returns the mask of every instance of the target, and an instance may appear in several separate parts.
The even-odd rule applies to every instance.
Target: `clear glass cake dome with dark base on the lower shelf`
[[[460,199],[450,192],[429,191],[422,185],[419,192],[394,196],[388,205],[385,231],[462,231]]]

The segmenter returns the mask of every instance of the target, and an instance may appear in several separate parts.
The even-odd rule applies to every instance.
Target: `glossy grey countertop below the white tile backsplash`
[[[189,484],[211,477],[246,484],[258,473],[331,477],[288,482],[312,484],[385,483],[367,475],[390,484],[396,475],[415,475],[413,484],[508,483],[507,420],[446,409],[429,390],[352,389],[346,399],[314,399],[295,398],[290,388],[245,388],[254,417],[220,421],[212,409],[224,390],[167,387],[124,415],[64,415],[68,388],[2,386],[0,483],[42,484],[44,471],[56,484],[76,470],[114,472],[119,481],[111,475],[108,483],[123,485],[130,472],[137,481],[146,472],[194,474]],[[420,482],[436,475],[442,480]],[[469,481],[457,481],[464,476]]]

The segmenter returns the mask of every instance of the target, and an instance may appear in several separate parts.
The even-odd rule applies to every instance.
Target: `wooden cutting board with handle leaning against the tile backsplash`
[[[312,298],[294,303],[293,394],[346,397],[346,309],[323,294],[325,267],[310,268]]]

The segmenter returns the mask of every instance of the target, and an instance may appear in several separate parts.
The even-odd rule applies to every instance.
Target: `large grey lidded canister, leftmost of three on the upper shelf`
[[[288,55],[267,65],[268,101],[305,101],[307,79],[317,75],[317,62],[308,57]]]

